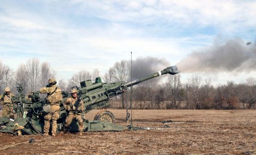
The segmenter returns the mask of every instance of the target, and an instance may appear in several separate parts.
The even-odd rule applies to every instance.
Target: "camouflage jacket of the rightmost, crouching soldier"
[[[63,103],[63,107],[67,110],[67,111],[70,111],[70,112],[74,112],[76,110],[76,101],[77,99],[74,99],[73,97],[69,97],[66,102]],[[82,111],[84,111],[84,102],[83,100],[81,100],[78,104],[78,107],[77,107],[77,111],[78,113],[81,113]]]

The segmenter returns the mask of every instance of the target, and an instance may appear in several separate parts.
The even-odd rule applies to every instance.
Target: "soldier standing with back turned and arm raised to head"
[[[39,90],[42,94],[47,94],[47,103],[50,105],[50,110],[44,116],[44,136],[49,135],[50,121],[52,120],[52,136],[56,136],[57,120],[60,117],[60,102],[62,101],[61,89],[56,86],[55,78],[48,80],[46,87]]]

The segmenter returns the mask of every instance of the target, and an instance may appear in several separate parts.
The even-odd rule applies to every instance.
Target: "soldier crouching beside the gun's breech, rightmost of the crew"
[[[82,135],[84,125],[82,119],[82,112],[84,111],[84,102],[77,97],[77,90],[71,90],[72,97],[69,97],[66,102],[63,103],[64,108],[68,111],[68,116],[65,121],[64,131],[66,132],[73,119],[76,119],[79,123],[79,135]]]

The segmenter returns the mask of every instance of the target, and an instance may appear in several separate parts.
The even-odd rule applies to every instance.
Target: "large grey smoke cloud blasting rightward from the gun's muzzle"
[[[182,72],[255,71],[256,46],[255,43],[246,45],[242,39],[231,39],[192,52],[177,66]]]

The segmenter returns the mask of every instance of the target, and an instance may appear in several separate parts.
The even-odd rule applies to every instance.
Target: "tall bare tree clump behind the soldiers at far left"
[[[54,75],[55,72],[50,68],[50,64],[39,63],[38,59],[29,59],[26,64],[21,63],[15,71],[0,61],[0,90],[3,92],[8,86],[12,92],[17,93],[16,87],[21,85],[23,92],[27,94],[45,86],[47,80]]]

